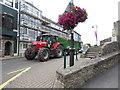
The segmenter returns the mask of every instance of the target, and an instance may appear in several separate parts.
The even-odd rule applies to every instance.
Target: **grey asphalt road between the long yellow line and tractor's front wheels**
[[[38,63],[41,64],[39,60],[26,60],[25,58],[2,61],[2,83],[18,74],[22,69],[32,67]],[[10,74],[10,72],[16,70],[19,71]]]

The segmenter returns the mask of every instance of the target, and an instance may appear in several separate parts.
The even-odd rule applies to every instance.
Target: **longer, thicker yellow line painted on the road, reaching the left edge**
[[[9,79],[8,81],[6,81],[5,83],[3,83],[2,85],[0,85],[0,90],[5,87],[8,83],[10,83],[11,81],[13,81],[14,79],[16,79],[17,77],[19,77],[20,75],[22,75],[24,72],[28,71],[29,69],[31,69],[31,67],[26,68],[25,70],[23,70],[22,72],[18,73],[17,75],[15,75],[14,77],[12,77],[11,79]]]

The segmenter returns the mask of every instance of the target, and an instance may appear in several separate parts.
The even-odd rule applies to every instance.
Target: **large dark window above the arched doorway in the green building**
[[[13,29],[13,25],[14,25],[14,17],[8,14],[3,14],[2,15],[2,26]]]

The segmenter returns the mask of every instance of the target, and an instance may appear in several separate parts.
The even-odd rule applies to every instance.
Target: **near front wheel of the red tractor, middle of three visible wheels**
[[[49,59],[50,50],[48,48],[41,48],[38,52],[38,60],[41,62]]]

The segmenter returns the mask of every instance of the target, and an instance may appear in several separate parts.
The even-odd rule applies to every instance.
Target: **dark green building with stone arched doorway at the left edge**
[[[0,0],[0,56],[17,53],[18,0]]]

